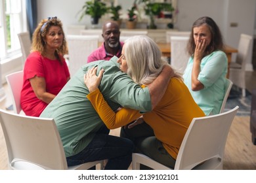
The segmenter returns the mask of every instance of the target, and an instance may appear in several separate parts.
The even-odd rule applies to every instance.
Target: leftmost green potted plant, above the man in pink
[[[105,3],[100,2],[100,0],[86,1],[85,5],[79,10],[81,16],[79,21],[83,19],[83,16],[91,16],[91,24],[98,24],[99,18],[101,18],[108,11]]]

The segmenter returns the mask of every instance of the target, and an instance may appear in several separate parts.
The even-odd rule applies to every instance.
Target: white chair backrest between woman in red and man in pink
[[[77,70],[87,63],[91,52],[98,48],[98,36],[96,35],[67,35],[68,58],[70,75],[73,76]]]

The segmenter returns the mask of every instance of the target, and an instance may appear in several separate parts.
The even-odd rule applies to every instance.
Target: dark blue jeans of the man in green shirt
[[[103,125],[93,141],[81,152],[67,159],[68,166],[108,159],[105,170],[126,170],[131,164],[134,144],[129,139],[108,135],[109,129]]]

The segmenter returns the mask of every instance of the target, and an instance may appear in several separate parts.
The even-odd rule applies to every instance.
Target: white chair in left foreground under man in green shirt
[[[68,167],[53,119],[22,116],[0,109],[0,123],[7,144],[10,169],[89,169],[98,163],[102,169],[103,161]]]

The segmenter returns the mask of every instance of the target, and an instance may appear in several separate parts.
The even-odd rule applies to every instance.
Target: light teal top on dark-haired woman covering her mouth
[[[200,91],[192,91],[191,74],[194,59],[190,57],[188,65],[184,71],[184,82],[194,101],[202,108],[205,115],[219,114],[224,98],[224,86],[228,59],[222,51],[217,51],[205,56],[201,61],[201,71],[198,80],[202,82],[204,88]]]

